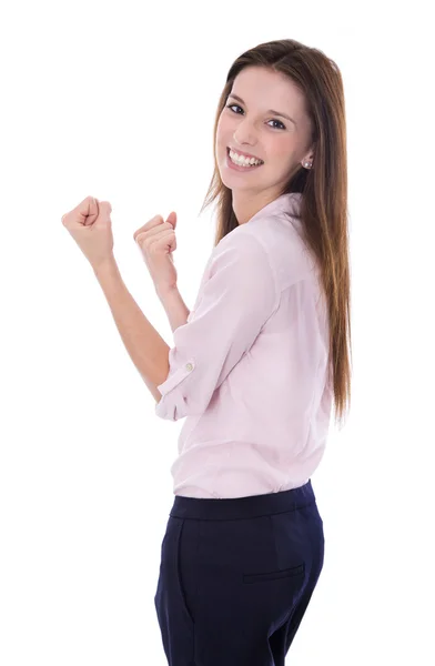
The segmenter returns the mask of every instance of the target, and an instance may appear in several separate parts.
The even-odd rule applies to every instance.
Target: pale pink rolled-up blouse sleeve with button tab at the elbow
[[[211,258],[193,316],[173,333],[155,414],[169,421],[202,414],[274,312],[276,297],[273,268],[261,242],[245,233],[224,236]]]

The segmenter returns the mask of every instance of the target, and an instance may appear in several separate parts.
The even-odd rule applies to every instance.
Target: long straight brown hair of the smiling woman
[[[332,382],[335,417],[341,422],[351,395],[351,290],[347,226],[347,155],[343,80],[336,63],[322,51],[283,39],[245,51],[231,65],[219,100],[213,132],[214,172],[201,212],[216,201],[214,246],[239,225],[232,191],[221,180],[216,161],[219,118],[234,79],[245,67],[281,72],[305,95],[315,145],[313,168],[301,164],[289,175],[282,194],[301,192],[300,216],[304,241],[320,266],[330,323],[328,381]]]

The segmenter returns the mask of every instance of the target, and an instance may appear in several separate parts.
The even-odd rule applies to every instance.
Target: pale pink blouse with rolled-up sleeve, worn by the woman
[[[292,215],[301,196],[279,196],[213,248],[188,322],[173,332],[155,414],[185,417],[174,495],[277,493],[306,483],[322,460],[328,324]]]

